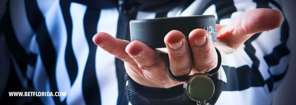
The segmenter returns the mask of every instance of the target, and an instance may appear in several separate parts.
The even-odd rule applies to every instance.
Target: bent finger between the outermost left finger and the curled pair
[[[142,42],[132,41],[126,47],[126,52],[141,70],[164,70],[165,64],[161,62],[159,54]]]

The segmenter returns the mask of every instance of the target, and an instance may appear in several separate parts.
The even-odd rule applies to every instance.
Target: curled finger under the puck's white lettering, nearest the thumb
[[[189,33],[189,42],[193,54],[194,68],[198,72],[208,72],[217,66],[218,56],[211,34],[203,29]]]

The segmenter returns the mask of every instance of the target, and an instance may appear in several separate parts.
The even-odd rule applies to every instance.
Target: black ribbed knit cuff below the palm
[[[196,105],[183,91],[183,85],[172,88],[149,88],[133,81],[128,74],[127,97],[133,105]]]

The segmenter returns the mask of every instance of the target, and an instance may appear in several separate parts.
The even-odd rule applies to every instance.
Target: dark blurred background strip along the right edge
[[[287,18],[290,27],[289,40],[291,44],[291,59],[289,62],[289,69],[284,77],[281,85],[274,93],[274,105],[292,105],[296,103],[296,0],[280,0],[284,15]]]

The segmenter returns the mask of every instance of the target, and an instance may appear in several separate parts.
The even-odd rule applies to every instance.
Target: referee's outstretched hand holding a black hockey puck
[[[189,42],[178,30],[170,31],[164,39],[168,54],[161,54],[139,41],[125,41],[113,38],[107,33],[93,37],[96,45],[125,62],[128,75],[137,83],[156,88],[170,88],[179,84],[166,73],[166,62],[176,76],[208,72],[217,66],[215,47],[221,56],[234,53],[255,33],[278,28],[283,20],[275,9],[253,9],[241,14],[230,25],[216,25],[217,42],[203,29],[192,30]],[[193,56],[190,55],[190,43]],[[193,59],[191,59],[193,58]]]

